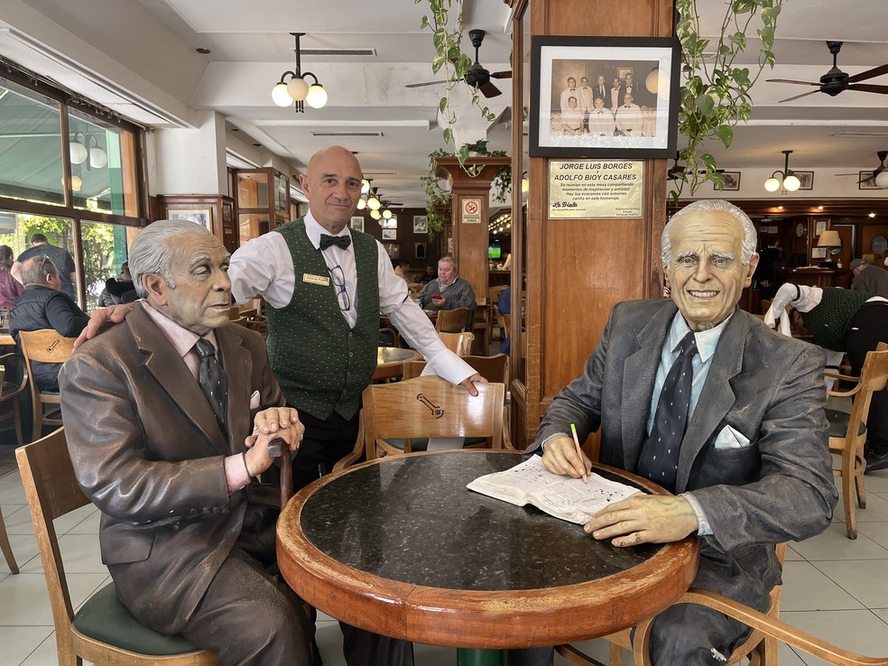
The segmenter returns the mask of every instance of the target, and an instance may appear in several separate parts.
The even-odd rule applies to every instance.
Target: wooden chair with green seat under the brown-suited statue
[[[89,504],[89,500],[74,476],[64,429],[16,449],[15,458],[40,547],[59,663],[74,666],[86,660],[121,666],[216,666],[215,655],[182,636],[157,634],[139,624],[117,600],[114,583],[102,587],[74,613],[52,521]]]

